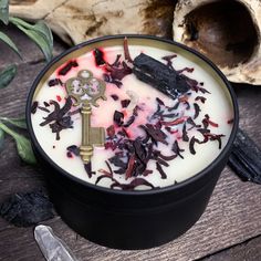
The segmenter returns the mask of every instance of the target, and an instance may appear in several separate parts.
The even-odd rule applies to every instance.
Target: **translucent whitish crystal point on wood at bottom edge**
[[[69,247],[54,234],[52,228],[36,226],[34,238],[48,261],[77,261]]]

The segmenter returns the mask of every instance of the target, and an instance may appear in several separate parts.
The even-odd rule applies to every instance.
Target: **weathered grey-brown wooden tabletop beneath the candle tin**
[[[0,90],[0,115],[24,113],[25,100],[44,60],[36,46],[14,29],[8,33],[18,43],[23,60],[19,60],[0,43],[0,70],[18,64],[18,75],[8,88]],[[66,46],[55,40],[54,55]],[[240,126],[261,145],[261,87],[234,86]],[[0,202],[10,195],[44,187],[41,167],[28,166],[19,159],[15,145],[6,137],[0,153]],[[242,182],[229,167],[222,171],[206,212],[184,236],[159,248],[142,251],[121,251],[94,244],[77,236],[60,217],[44,221],[53,228],[80,260],[261,260],[261,186]],[[34,239],[33,227],[17,228],[0,218],[0,260],[44,260]]]

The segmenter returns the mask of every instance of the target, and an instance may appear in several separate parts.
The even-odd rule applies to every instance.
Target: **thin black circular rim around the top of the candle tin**
[[[213,70],[218,76],[220,77],[220,80],[225,83],[227,91],[229,92],[229,95],[231,97],[231,102],[232,102],[232,108],[233,108],[233,126],[229,136],[229,139],[226,144],[226,146],[223,147],[223,149],[221,150],[221,153],[206,167],[203,168],[201,171],[198,171],[197,174],[195,174],[192,177],[185,179],[184,181],[180,181],[178,184],[175,185],[170,185],[170,186],[166,186],[166,187],[161,187],[161,188],[155,188],[155,189],[148,189],[148,190],[133,190],[133,191],[126,191],[126,190],[117,190],[117,189],[112,189],[112,188],[106,188],[106,187],[102,187],[102,186],[97,186],[91,182],[87,182],[85,180],[82,180],[75,176],[73,176],[72,174],[65,171],[62,167],[60,167],[59,165],[56,165],[51,158],[50,156],[48,156],[48,154],[42,149],[41,145],[39,144],[35,135],[34,135],[34,130],[32,127],[32,121],[31,121],[31,104],[32,104],[32,100],[33,100],[33,95],[35,92],[35,88],[39,85],[39,82],[42,80],[42,77],[45,75],[45,73],[48,72],[48,70],[54,65],[56,62],[59,62],[62,58],[66,56],[67,54],[70,54],[73,51],[76,51],[79,49],[82,49],[83,46],[93,44],[93,43],[98,43],[102,41],[106,41],[106,40],[113,40],[113,39],[147,39],[147,40],[153,40],[153,41],[160,41],[160,42],[165,42],[168,44],[173,44],[176,45],[177,48],[180,48],[189,53],[191,53],[192,55],[196,55],[197,58],[199,58],[200,60],[202,60],[205,63],[207,63],[211,70]],[[76,44],[75,46],[70,48],[69,50],[62,52],[61,54],[59,54],[58,56],[55,56],[52,61],[50,61],[42,70],[41,72],[38,74],[36,79],[34,80],[28,98],[27,98],[27,107],[25,107],[25,118],[27,118],[27,125],[28,125],[28,132],[30,134],[30,138],[33,143],[33,145],[36,147],[36,149],[39,150],[41,157],[44,158],[44,160],[46,160],[55,170],[58,170],[61,175],[64,175],[66,178],[71,179],[74,182],[81,184],[90,189],[94,189],[94,190],[98,190],[101,192],[105,192],[105,194],[115,194],[115,195],[129,195],[129,196],[148,196],[148,195],[155,195],[155,194],[163,194],[163,192],[168,192],[170,190],[178,190],[181,189],[184,187],[187,187],[190,184],[194,184],[195,181],[199,180],[200,178],[202,178],[206,175],[209,175],[210,170],[212,168],[215,168],[219,161],[229,153],[229,150],[231,149],[232,143],[236,138],[237,132],[238,132],[238,125],[239,125],[239,108],[238,108],[238,103],[237,103],[237,96],[236,93],[233,91],[233,88],[231,87],[230,83],[228,82],[227,77],[223,75],[223,73],[217,67],[217,65],[213,64],[213,62],[211,62],[208,58],[206,58],[205,55],[202,55],[201,53],[199,53],[198,51],[190,49],[181,43],[175,42],[173,40],[167,40],[167,39],[163,39],[163,38],[158,38],[155,35],[147,35],[147,34],[116,34],[116,35],[105,35],[105,36],[100,36],[100,38],[95,38],[85,42],[82,42],[80,44]]]

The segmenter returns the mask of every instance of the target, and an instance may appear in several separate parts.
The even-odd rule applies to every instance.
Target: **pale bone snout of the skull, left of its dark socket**
[[[173,35],[173,0],[11,0],[10,14],[44,20],[64,42],[143,33]]]

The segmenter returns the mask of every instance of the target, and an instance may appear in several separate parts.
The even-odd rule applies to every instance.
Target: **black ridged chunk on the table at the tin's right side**
[[[243,181],[261,184],[261,149],[239,129],[228,165]]]

